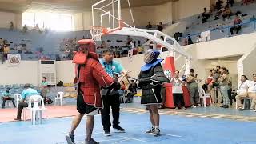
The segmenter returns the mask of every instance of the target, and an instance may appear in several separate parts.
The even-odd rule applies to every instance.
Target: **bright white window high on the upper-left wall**
[[[58,13],[23,13],[22,25],[34,27],[38,24],[40,29],[50,28],[50,30],[72,31],[73,21],[71,14]]]

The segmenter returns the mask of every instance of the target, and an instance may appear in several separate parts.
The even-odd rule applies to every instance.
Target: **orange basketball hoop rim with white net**
[[[92,36],[92,39],[97,42],[102,40],[102,34],[107,34],[107,31],[108,30],[103,26],[90,27],[90,34]]]

